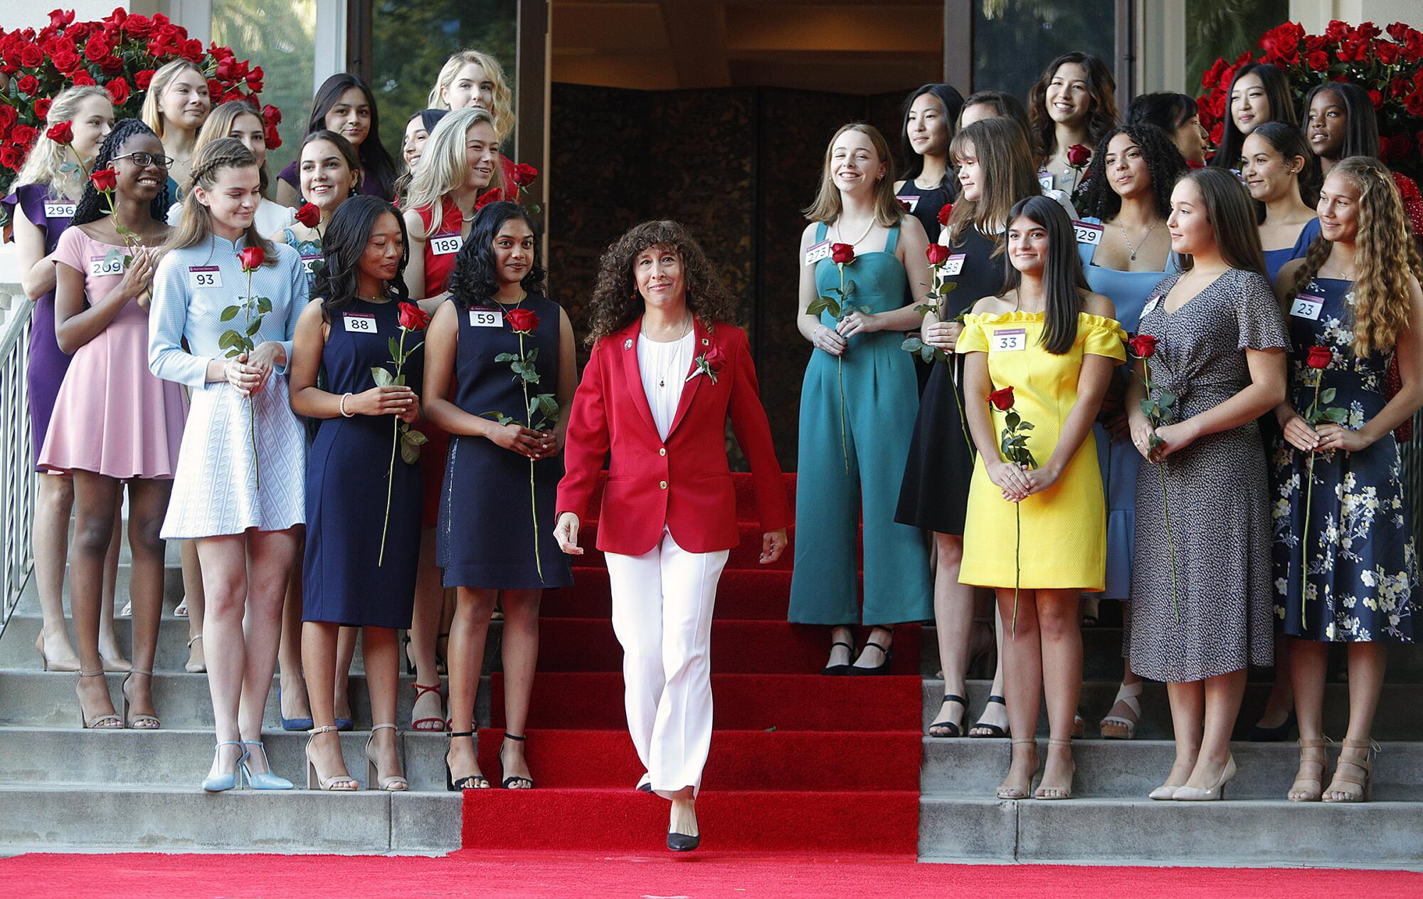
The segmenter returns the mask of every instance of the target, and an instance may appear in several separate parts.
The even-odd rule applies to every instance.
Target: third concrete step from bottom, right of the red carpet
[[[1099,737],[1097,723],[1111,708],[1111,701],[1117,696],[1117,686],[1111,681],[1086,681],[1081,686],[1081,701],[1079,704],[1081,717],[1087,721],[1087,737]],[[968,724],[978,720],[983,706],[988,703],[989,680],[969,681],[969,714]],[[1237,720],[1235,738],[1239,740],[1245,731],[1259,718],[1269,696],[1268,683],[1252,683],[1245,688],[1245,701]],[[929,723],[939,714],[943,703],[943,681],[936,679],[924,680],[924,730],[928,733]],[[1423,684],[1383,684],[1379,697],[1382,714],[1373,721],[1375,740],[1417,740],[1423,734]],[[1141,723],[1137,725],[1137,738],[1141,740],[1171,740],[1171,707],[1165,698],[1165,686],[1148,683],[1141,696]],[[1348,730],[1349,716],[1349,684],[1325,686],[1325,733],[1342,737]],[[1047,711],[1039,714],[1037,735],[1047,735]],[[1006,740],[1002,741],[1006,745]]]

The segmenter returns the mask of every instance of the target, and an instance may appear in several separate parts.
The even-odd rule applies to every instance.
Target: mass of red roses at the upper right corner
[[[1402,21],[1382,30],[1372,21],[1331,21],[1323,34],[1306,34],[1286,21],[1266,31],[1258,47],[1229,64],[1217,58],[1201,75],[1197,105],[1212,142],[1221,142],[1229,115],[1231,78],[1247,63],[1269,63],[1289,80],[1296,110],[1316,84],[1352,81],[1365,88],[1379,119],[1380,158],[1410,178],[1423,175],[1423,33]]]

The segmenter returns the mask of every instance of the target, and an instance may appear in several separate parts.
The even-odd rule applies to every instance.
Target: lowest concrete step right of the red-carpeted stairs
[[[1423,802],[919,799],[922,861],[1420,868]]]

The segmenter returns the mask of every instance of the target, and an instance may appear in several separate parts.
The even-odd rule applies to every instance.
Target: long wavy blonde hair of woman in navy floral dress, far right
[[[1353,282],[1353,351],[1370,356],[1392,350],[1399,336],[1409,330],[1409,276],[1423,282],[1423,259],[1409,233],[1403,198],[1393,176],[1372,156],[1349,156],[1329,169],[1359,191],[1359,233],[1355,236]],[[1319,266],[1329,259],[1333,245],[1315,238],[1305,253],[1305,265],[1295,272],[1291,293],[1299,293]]]

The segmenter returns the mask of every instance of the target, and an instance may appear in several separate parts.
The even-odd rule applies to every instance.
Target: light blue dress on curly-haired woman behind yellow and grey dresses
[[[1094,216],[1081,220],[1101,225],[1101,219]],[[1096,246],[1077,245],[1087,284],[1094,293],[1111,300],[1117,309],[1117,321],[1121,323],[1121,329],[1128,334],[1136,334],[1147,299],[1155,292],[1155,286],[1161,283],[1163,277],[1175,272],[1175,256],[1168,253],[1165,267],[1160,272],[1118,272],[1093,265],[1091,257],[1096,250]],[[1133,371],[1131,360],[1127,360],[1127,366],[1116,373],[1116,377],[1136,377]],[[1093,430],[1097,434],[1101,482],[1107,491],[1107,589],[1103,590],[1101,596],[1104,599],[1128,599],[1131,596],[1131,556],[1136,552],[1137,531],[1137,467],[1141,464],[1141,454],[1128,440],[1111,440],[1101,424],[1093,425]]]

